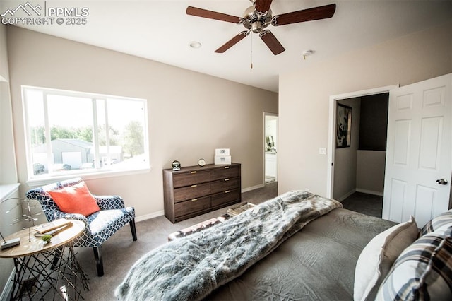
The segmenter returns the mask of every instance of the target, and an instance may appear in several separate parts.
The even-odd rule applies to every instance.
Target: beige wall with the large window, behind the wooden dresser
[[[278,112],[276,93],[14,26],[8,53],[22,193],[28,179],[20,85],[148,100],[150,172],[87,182],[94,194],[123,196],[139,218],[162,213],[162,169],[173,160],[213,163],[215,148],[230,148],[242,163],[244,189],[263,184],[263,112]]]

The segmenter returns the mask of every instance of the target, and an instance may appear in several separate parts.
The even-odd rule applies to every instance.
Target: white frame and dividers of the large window
[[[143,172],[149,172],[150,167],[150,157],[149,157],[149,135],[148,135],[148,102],[147,100],[143,98],[129,98],[124,96],[117,96],[117,95],[104,95],[104,94],[97,94],[97,93],[83,93],[83,92],[76,92],[76,91],[70,91],[70,90],[59,90],[59,89],[52,89],[52,88],[41,88],[41,87],[34,87],[30,85],[22,85],[22,104],[23,104],[23,119],[24,119],[24,133],[25,133],[25,148],[26,148],[26,161],[27,161],[27,170],[28,170],[28,184],[32,185],[42,185],[47,184],[49,182],[54,182],[61,179],[69,179],[72,177],[83,177],[83,179],[96,179],[101,177],[113,177],[113,176],[120,176],[120,175],[133,175],[137,173],[143,173]],[[93,103],[93,128],[97,128],[97,105],[96,102],[99,100],[105,100],[105,124],[108,125],[108,114],[107,114],[107,99],[108,98],[114,98],[115,100],[130,100],[130,101],[141,101],[143,103],[143,143],[144,143],[144,158],[145,162],[140,167],[129,167],[124,168],[121,170],[118,169],[109,169],[108,167],[102,167],[100,168],[100,146],[95,142],[98,141],[97,138],[97,131],[93,131],[93,144],[95,147],[95,168],[93,169],[87,169],[87,170],[71,170],[68,172],[51,172],[49,171],[48,174],[45,175],[34,175],[33,172],[33,156],[32,156],[32,143],[30,141],[30,126],[29,126],[29,119],[28,116],[30,112],[28,112],[28,105],[26,100],[26,90],[38,90],[43,93],[44,95],[44,127],[45,127],[45,135],[46,135],[46,141],[50,140],[50,126],[49,126],[49,116],[48,116],[48,110],[47,105],[45,104],[47,102],[46,95],[61,95],[61,96],[69,96],[69,97],[78,97],[78,98],[90,98]],[[108,126],[107,126],[108,129]],[[109,150],[109,131],[106,131],[106,140],[107,140],[107,151]],[[47,158],[52,157],[52,151],[50,143],[47,144]]]

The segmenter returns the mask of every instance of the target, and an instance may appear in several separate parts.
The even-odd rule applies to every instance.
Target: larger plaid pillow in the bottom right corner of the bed
[[[376,300],[452,300],[452,226],[430,232],[394,263]]]

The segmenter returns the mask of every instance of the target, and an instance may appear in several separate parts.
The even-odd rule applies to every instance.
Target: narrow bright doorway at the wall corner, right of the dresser
[[[263,113],[264,183],[278,181],[278,114]]]

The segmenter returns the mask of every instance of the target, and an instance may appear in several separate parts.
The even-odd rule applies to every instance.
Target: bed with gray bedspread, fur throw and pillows
[[[119,300],[451,300],[451,232],[451,211],[419,231],[414,218],[397,224],[290,191],[145,254],[115,295]]]

